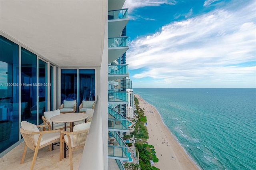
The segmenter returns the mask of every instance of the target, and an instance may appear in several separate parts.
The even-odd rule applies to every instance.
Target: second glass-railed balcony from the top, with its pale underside
[[[128,49],[128,36],[108,38],[108,64],[118,59]]]

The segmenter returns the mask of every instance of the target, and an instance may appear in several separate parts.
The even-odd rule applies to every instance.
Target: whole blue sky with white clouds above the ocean
[[[126,0],[133,88],[256,88],[255,0]]]

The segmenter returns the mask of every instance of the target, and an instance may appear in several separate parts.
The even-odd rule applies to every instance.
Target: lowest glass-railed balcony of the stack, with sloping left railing
[[[124,143],[122,138],[117,132],[110,131],[109,140],[112,141],[108,144],[108,158],[129,160],[128,158],[128,146]]]

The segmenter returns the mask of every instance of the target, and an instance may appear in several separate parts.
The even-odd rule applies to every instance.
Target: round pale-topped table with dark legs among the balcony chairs
[[[86,113],[64,113],[64,114],[53,116],[50,119],[52,121],[52,130],[53,130],[54,122],[65,123],[64,129],[66,131],[66,123],[68,123],[68,122],[72,123],[72,129],[73,129],[74,122],[81,121],[81,120],[85,119],[85,123],[86,123],[87,117],[88,117],[88,114],[86,114]],[[64,142],[64,158],[66,158],[66,150],[67,150],[66,143]]]

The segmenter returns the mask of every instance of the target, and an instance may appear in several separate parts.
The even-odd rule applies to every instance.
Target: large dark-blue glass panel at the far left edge
[[[0,152],[19,140],[19,45],[0,36]]]

